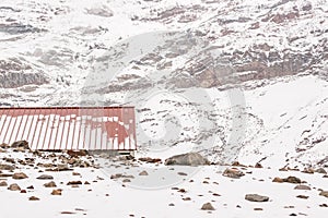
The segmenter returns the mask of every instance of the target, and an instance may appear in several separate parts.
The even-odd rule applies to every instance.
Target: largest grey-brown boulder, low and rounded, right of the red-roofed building
[[[210,161],[200,154],[187,153],[167,158],[165,165],[202,166],[210,165]]]

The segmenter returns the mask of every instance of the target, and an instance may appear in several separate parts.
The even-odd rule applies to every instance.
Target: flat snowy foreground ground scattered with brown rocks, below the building
[[[0,187],[1,217],[323,217],[327,210],[327,197],[320,190],[328,190],[327,178],[323,173],[279,171],[278,168],[237,167],[244,171],[241,179],[223,177],[229,166],[177,167],[140,161],[114,161],[95,158],[101,168],[73,167],[73,171],[51,172],[45,168],[24,167],[19,159],[36,158],[37,162],[58,164],[56,156],[40,158],[31,153],[1,153],[1,157],[12,157],[16,161],[14,172],[24,172],[23,180],[1,178],[8,184],[17,183],[22,190],[9,191]],[[50,155],[44,154],[43,156]],[[61,154],[57,154],[57,158]],[[85,158],[84,158],[85,159]],[[90,159],[86,159],[90,161]],[[3,164],[3,160],[1,160]],[[107,162],[105,165],[105,162]],[[7,165],[11,165],[8,164]],[[39,171],[42,170],[42,171]],[[302,170],[302,169],[301,169]],[[327,170],[327,168],[326,168]],[[139,175],[147,171],[148,175]],[[2,173],[13,173],[2,170]],[[73,175],[73,172],[80,174]],[[186,174],[178,174],[184,172]],[[127,178],[110,179],[116,173]],[[52,180],[38,180],[42,174],[52,175]],[[132,175],[132,177],[131,177]],[[273,178],[294,175],[306,181],[311,190],[294,190],[296,184],[276,183]],[[43,184],[55,181],[57,187]],[[77,187],[67,185],[70,181],[81,181]],[[87,181],[91,184],[84,184]],[[157,183],[157,185],[156,185]],[[165,185],[162,185],[165,184]],[[33,185],[34,190],[26,189]],[[152,185],[152,186],[151,186]],[[151,187],[151,189],[150,189]],[[51,195],[52,190],[61,189],[61,195]],[[246,194],[269,197],[269,202],[249,202]],[[307,199],[296,196],[305,195]],[[36,196],[39,201],[28,201]],[[188,198],[189,197],[189,198]],[[204,203],[211,203],[215,210],[201,210]],[[326,205],[325,205],[326,204]],[[255,209],[257,208],[257,209]],[[258,209],[261,210],[258,210]],[[69,213],[69,214],[68,214]]]

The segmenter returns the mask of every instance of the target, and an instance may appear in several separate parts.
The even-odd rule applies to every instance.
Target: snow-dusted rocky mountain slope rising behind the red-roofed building
[[[327,0],[4,0],[0,104],[134,105],[154,156],[325,164],[327,14]]]

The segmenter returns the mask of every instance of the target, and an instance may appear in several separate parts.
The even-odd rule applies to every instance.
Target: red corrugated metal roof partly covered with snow
[[[133,107],[0,108],[0,143],[32,149],[137,148]]]

